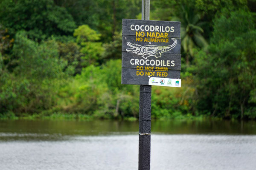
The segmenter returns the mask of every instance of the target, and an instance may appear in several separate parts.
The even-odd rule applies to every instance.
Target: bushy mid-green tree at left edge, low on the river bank
[[[20,31],[15,36],[13,55],[17,62],[13,74],[5,71],[0,78],[2,111],[38,113],[52,108],[59,79],[65,78],[62,70],[67,65],[58,57],[57,42],[38,43]]]

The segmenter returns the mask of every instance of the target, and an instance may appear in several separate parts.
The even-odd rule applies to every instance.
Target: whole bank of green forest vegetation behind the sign
[[[128,119],[139,86],[121,85],[122,18],[140,0],[2,0],[0,119]],[[182,88],[152,87],[152,118],[256,119],[253,0],[151,0],[181,21]]]

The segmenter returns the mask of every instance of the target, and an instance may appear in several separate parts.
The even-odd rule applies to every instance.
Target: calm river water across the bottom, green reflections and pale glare
[[[256,169],[256,122],[151,125],[151,170]],[[0,121],[0,170],[137,169],[138,122]]]

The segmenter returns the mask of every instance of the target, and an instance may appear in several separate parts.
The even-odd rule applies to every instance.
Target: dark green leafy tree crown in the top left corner
[[[3,0],[0,3],[1,23],[10,34],[25,30],[28,37],[44,40],[53,35],[72,35],[76,24],[67,9],[53,0]]]

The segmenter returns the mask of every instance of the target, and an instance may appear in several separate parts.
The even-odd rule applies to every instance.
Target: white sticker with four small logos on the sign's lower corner
[[[181,87],[181,79],[150,77],[150,79],[148,80],[148,85],[159,85],[159,86],[180,88]]]

